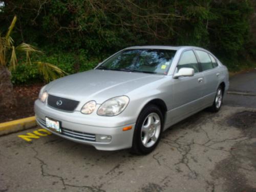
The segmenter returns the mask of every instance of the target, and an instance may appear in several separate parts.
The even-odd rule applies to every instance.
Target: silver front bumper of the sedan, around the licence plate
[[[135,123],[125,124],[120,122],[120,118],[101,116],[97,117],[98,123],[95,123],[95,119],[90,123],[90,119],[87,118],[90,116],[83,115],[77,111],[73,113],[58,111],[50,108],[47,104],[42,103],[39,100],[35,101],[34,110],[38,125],[60,137],[78,143],[89,144],[94,146],[97,150],[104,151],[114,151],[132,147]],[[50,117],[61,122],[61,134],[46,127],[46,117]],[[105,122],[106,126],[102,126],[102,122]],[[123,125],[120,126],[120,124]],[[132,129],[122,131],[125,126],[132,126]],[[111,136],[111,141],[97,142],[95,138],[98,135]]]

